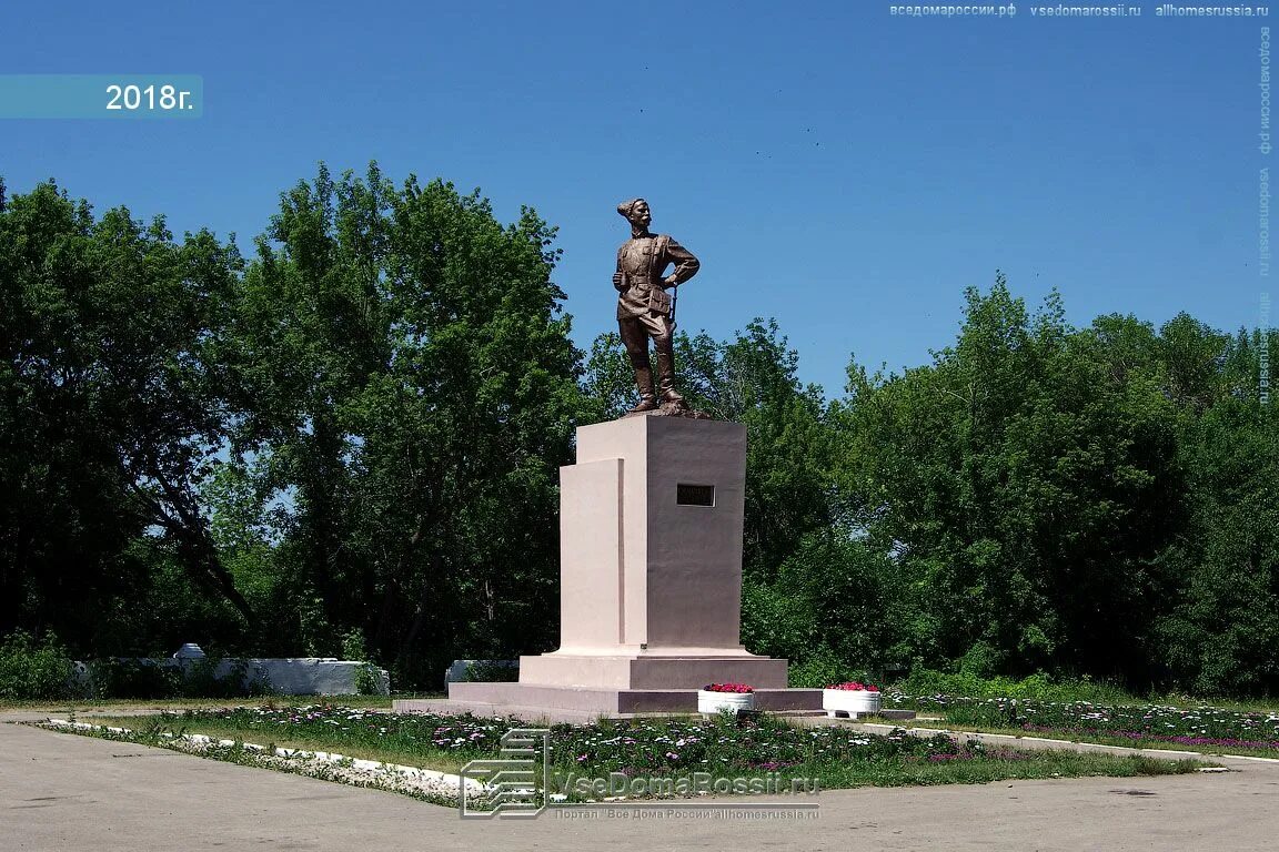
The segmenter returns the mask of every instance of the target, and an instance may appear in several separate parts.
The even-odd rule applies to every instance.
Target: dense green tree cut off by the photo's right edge
[[[1259,379],[1260,351],[1279,353],[1279,335],[1181,332],[1174,351],[1201,353],[1196,361],[1220,345],[1219,369],[1198,382],[1207,390],[1188,395],[1192,410],[1183,416],[1178,456],[1189,517],[1168,559],[1177,581],[1160,618],[1159,662],[1169,682],[1198,695],[1274,695],[1279,416],[1261,404]]]

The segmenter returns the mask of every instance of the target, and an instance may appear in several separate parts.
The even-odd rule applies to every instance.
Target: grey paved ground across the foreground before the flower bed
[[[0,714],[0,722],[43,718]],[[0,724],[0,848],[1275,849],[1279,764],[1237,772],[826,791],[812,820],[544,814],[462,820],[394,793]],[[705,800],[700,800],[703,802]],[[732,800],[741,803],[743,798]],[[678,805],[673,805],[678,810]],[[567,816],[576,812],[573,819]]]

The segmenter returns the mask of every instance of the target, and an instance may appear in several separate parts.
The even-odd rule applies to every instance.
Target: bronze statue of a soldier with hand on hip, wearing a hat
[[[675,328],[669,289],[697,275],[700,263],[692,252],[665,234],[652,234],[648,202],[636,198],[618,204],[618,212],[631,222],[631,239],[618,249],[618,271],[613,286],[618,290],[618,330],[636,372],[640,404],[631,413],[652,411],[660,405],[683,411],[684,397],[675,391],[675,356],[671,335]],[[670,275],[666,267],[674,264]],[[657,350],[657,387],[654,390],[648,339]]]

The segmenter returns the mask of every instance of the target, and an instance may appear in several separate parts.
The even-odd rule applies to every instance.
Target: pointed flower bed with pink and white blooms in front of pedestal
[[[475,757],[496,757],[503,733],[512,727],[527,727],[518,719],[400,715],[329,705],[168,713],[130,718],[125,724],[143,732],[141,742],[155,742],[161,731],[198,732],[262,745],[304,741],[312,750],[444,772],[457,772]],[[1024,752],[950,736],[914,737],[904,731],[875,736],[842,726],[799,727],[769,715],[556,724],[550,728],[550,755],[553,792],[568,793],[574,800],[583,798],[573,793],[579,779],[615,775],[766,775],[778,788],[789,788],[792,782],[803,779],[811,789],[811,784],[835,788],[985,783],[1005,778],[1164,774],[1196,768],[1186,761]]]

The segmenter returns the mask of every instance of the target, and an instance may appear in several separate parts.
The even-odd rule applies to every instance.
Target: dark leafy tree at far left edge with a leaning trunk
[[[139,582],[141,536],[252,620],[198,501],[238,266],[208,231],[96,218],[52,183],[0,206],[0,627],[91,641],[102,600]]]

